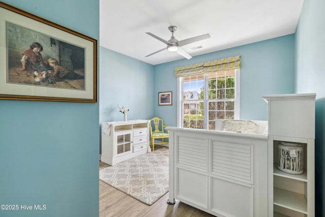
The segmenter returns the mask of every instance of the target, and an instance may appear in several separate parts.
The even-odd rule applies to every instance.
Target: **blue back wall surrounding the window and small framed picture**
[[[177,126],[177,78],[175,68],[203,61],[241,55],[240,118],[267,120],[263,95],[293,94],[295,35],[181,59],[154,67],[154,115],[167,126]],[[158,106],[158,92],[173,91],[172,106]]]

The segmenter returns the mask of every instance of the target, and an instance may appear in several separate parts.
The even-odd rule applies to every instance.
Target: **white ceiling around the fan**
[[[168,26],[179,41],[210,34],[183,46],[191,56],[250,44],[296,32],[303,0],[100,0],[100,46],[151,65],[184,58],[164,50]],[[200,49],[191,49],[197,46]]]

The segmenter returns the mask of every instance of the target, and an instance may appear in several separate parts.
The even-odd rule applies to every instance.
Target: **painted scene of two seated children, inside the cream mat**
[[[85,89],[83,47],[14,23],[7,24],[7,33],[8,84]]]

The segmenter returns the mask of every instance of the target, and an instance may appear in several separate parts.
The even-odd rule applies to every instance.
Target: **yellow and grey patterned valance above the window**
[[[206,61],[204,63],[176,67],[175,76],[185,77],[218,71],[227,71],[240,68],[240,55],[222,59]]]

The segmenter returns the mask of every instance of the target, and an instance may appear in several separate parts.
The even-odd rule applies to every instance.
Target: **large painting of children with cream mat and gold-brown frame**
[[[96,103],[97,40],[0,2],[0,99]]]

